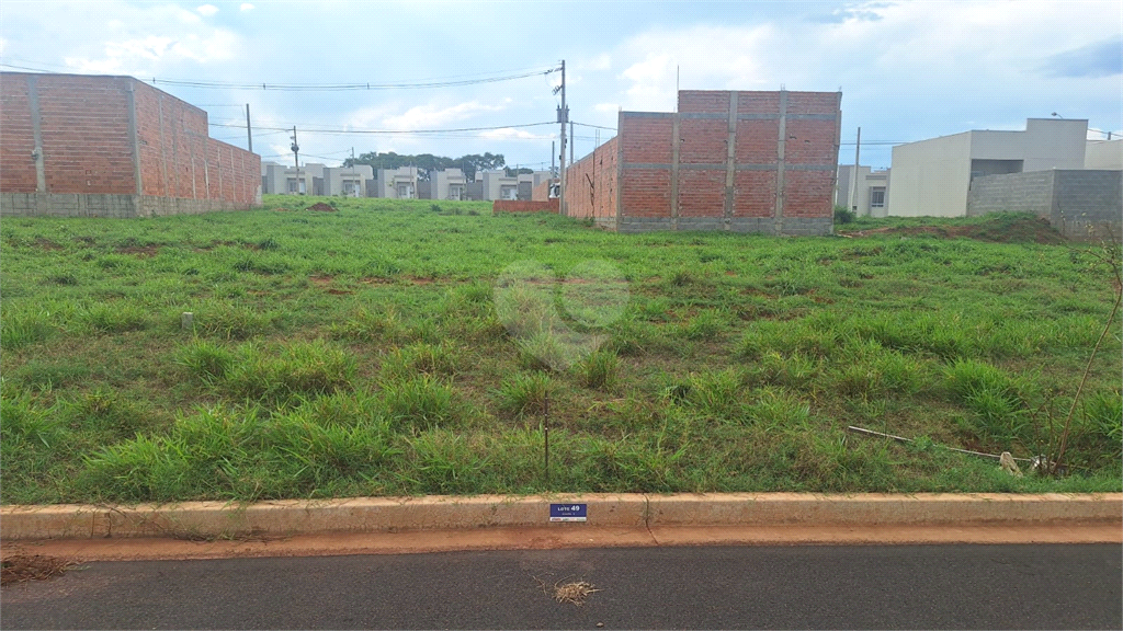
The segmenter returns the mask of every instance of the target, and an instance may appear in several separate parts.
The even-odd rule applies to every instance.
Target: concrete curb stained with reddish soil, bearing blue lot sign
[[[588,521],[550,523],[550,503],[585,503]],[[286,500],[235,504],[0,506],[0,539],[235,539],[482,528],[1120,524],[1123,494],[803,493],[480,495]]]

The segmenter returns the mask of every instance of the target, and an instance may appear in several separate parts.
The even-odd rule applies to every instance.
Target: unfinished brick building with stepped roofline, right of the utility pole
[[[841,92],[678,92],[622,111],[617,137],[566,171],[565,213],[621,232],[829,235]]]

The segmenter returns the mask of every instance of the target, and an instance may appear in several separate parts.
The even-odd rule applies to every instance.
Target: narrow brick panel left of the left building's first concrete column
[[[35,192],[35,136],[26,75],[0,74],[0,191]]]

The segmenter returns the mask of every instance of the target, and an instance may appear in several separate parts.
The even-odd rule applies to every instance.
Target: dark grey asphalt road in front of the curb
[[[554,601],[579,579],[601,591]],[[3,629],[1120,629],[1121,612],[1117,545],[94,563],[0,592]]]

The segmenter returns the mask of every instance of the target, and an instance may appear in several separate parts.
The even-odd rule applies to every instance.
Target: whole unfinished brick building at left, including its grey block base
[[[261,157],[131,76],[0,73],[0,213],[152,217],[261,205]]]

